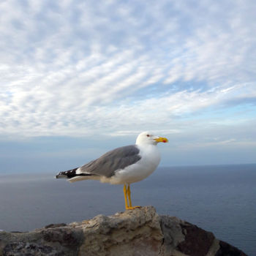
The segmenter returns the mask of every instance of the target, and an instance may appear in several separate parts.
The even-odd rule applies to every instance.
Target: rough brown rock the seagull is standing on
[[[152,206],[28,233],[0,232],[3,256],[246,256],[214,234]]]

